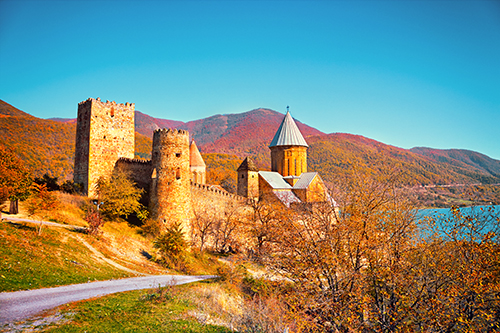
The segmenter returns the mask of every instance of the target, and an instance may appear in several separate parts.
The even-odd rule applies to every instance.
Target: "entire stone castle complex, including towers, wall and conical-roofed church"
[[[259,171],[247,157],[238,168],[238,195],[205,184],[206,165],[185,130],[156,130],[151,159],[134,159],[134,112],[133,103],[99,98],[78,104],[74,181],[89,197],[97,196],[99,177],[121,169],[146,191],[150,217],[167,224],[187,224],[194,199],[270,198],[287,207],[328,200],[321,177],[307,172],[308,145],[289,112],[270,145],[272,171]]]

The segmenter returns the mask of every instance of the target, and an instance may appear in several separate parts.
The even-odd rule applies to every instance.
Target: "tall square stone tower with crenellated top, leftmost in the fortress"
[[[78,104],[73,179],[95,197],[99,177],[111,175],[121,157],[134,158],[135,104],[89,98]]]

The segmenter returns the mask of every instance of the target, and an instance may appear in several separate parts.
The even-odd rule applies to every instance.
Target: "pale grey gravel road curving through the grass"
[[[0,326],[21,321],[56,306],[108,294],[179,285],[214,278],[211,275],[153,275],[72,284],[56,288],[0,293]]]

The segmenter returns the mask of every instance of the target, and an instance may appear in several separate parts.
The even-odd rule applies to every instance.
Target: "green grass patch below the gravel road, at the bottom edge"
[[[186,288],[187,287],[187,288]],[[72,319],[45,332],[232,332],[223,326],[204,325],[188,314],[195,305],[178,290],[188,286],[131,291],[62,306]]]

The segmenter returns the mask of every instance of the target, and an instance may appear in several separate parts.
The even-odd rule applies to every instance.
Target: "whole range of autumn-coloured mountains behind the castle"
[[[186,123],[136,111],[136,156],[150,158],[154,130],[185,129],[208,161],[211,179],[229,182],[235,175],[231,170],[247,155],[254,157],[259,168],[269,169],[268,145],[282,119],[283,114],[264,108]],[[332,182],[354,162],[373,170],[394,165],[408,182],[423,185],[500,182],[500,161],[477,152],[406,150],[359,135],[324,134],[299,121],[297,125],[310,146],[309,170],[320,172],[326,182]],[[0,101],[0,144],[14,149],[35,175],[47,172],[60,179],[72,177],[75,130],[72,119],[39,119]],[[228,178],[225,174],[230,171]]]

